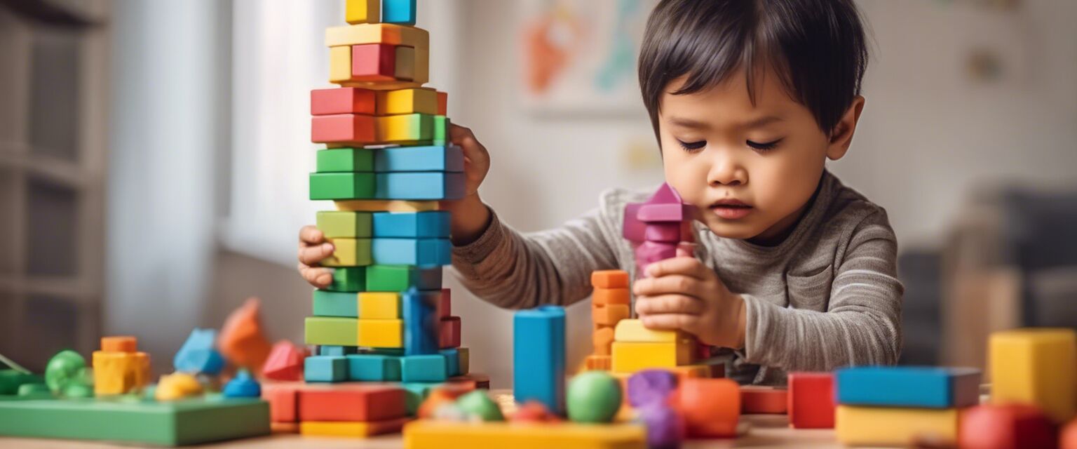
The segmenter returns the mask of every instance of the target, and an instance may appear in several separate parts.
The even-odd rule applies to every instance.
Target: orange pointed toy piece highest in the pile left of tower
[[[262,371],[262,365],[271,349],[262,331],[262,320],[258,317],[261,307],[258,298],[248,298],[224,321],[216,341],[221,354],[228,362],[251,373]]]

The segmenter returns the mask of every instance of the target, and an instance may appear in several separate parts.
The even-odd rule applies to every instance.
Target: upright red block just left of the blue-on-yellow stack
[[[789,373],[788,413],[794,429],[834,429],[834,374]]]

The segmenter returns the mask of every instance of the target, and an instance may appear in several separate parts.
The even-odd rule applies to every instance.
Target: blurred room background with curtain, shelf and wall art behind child
[[[830,165],[885,207],[903,363],[982,365],[985,336],[1077,325],[1077,2],[864,0],[867,97]],[[661,167],[635,83],[653,0],[419,0],[431,86],[521,230]],[[132,334],[157,370],[249,296],[302,341],[309,90],[338,0],[0,0],[0,353],[40,369]],[[447,277],[449,279],[450,277]],[[454,280],[475,371],[510,382],[510,312]],[[570,363],[590,352],[570,309]]]

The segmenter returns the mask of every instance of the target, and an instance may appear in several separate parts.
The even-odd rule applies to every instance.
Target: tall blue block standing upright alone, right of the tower
[[[564,309],[543,306],[513,317],[513,394],[564,413]]]

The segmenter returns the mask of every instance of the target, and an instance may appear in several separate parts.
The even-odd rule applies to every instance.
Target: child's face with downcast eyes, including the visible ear
[[[721,237],[768,244],[797,222],[825,159],[844,155],[863,98],[845,114],[852,126],[839,124],[827,136],[775,74],[760,74],[754,106],[743,70],[689,95],[670,94],[684,83],[674,80],[662,96],[659,129],[666,181],[699,209],[698,220]]]

